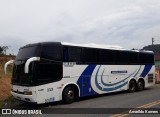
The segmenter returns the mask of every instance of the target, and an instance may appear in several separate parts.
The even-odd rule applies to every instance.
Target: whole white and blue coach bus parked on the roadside
[[[155,84],[154,53],[116,46],[43,42],[19,49],[13,63],[11,94],[32,103],[128,90]]]

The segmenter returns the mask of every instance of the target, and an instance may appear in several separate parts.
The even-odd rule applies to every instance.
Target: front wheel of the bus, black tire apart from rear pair
[[[64,89],[62,94],[62,100],[66,104],[71,104],[76,99],[76,93],[73,87],[68,86]]]

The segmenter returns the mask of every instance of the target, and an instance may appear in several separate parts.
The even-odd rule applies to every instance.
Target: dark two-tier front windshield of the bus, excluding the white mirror
[[[30,86],[34,85],[33,70],[35,63],[31,63],[29,66],[29,73],[24,73],[24,66],[27,59],[31,57],[39,56],[40,46],[29,46],[21,48],[18,52],[16,60],[14,62],[13,74],[12,74],[12,84]]]

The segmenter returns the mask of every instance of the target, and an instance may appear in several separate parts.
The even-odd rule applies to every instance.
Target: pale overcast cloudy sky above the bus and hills
[[[0,46],[56,41],[141,49],[160,43],[160,0],[0,0]]]

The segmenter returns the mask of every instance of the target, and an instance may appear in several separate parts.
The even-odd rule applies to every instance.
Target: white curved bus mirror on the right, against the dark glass
[[[33,61],[40,61],[40,57],[31,57],[26,61],[26,64],[24,66],[24,73],[29,73],[29,65]]]

